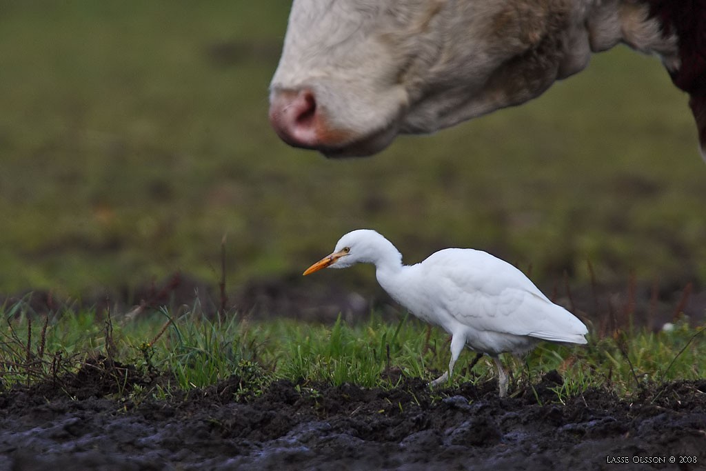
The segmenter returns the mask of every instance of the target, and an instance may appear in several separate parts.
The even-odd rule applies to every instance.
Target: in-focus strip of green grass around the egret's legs
[[[203,390],[237,378],[236,399],[263,393],[270,381],[287,378],[304,388],[354,383],[392,388],[401,378],[436,378],[448,364],[448,335],[409,316],[385,323],[376,315],[349,325],[298,323],[285,318],[251,322],[238,316],[209,319],[198,306],[181,313],[160,312],[132,320],[92,311],[68,310],[42,321],[27,306],[6,306],[0,326],[0,386],[30,385],[79,371],[91,359],[133,365],[138,376],[167,378],[128,386],[116,377],[114,397],[164,399],[178,391]],[[32,320],[33,319],[33,320]],[[679,322],[669,332],[617,331],[590,335],[585,347],[541,344],[525,358],[506,355],[510,393],[533,386],[557,370],[556,402],[603,388],[638,397],[665,382],[701,378],[706,368],[703,328]],[[465,351],[446,386],[496,381],[489,359],[472,371]],[[309,385],[309,386],[308,386]]]

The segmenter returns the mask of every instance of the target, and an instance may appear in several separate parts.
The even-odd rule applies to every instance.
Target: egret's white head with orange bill
[[[338,239],[333,252],[307,268],[304,275],[322,268],[347,268],[356,263],[376,263],[381,257],[383,244],[392,246],[385,237],[371,229],[354,230]],[[394,246],[393,251],[399,254]]]

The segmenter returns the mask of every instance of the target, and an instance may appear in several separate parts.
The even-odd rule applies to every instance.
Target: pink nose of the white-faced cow
[[[270,123],[289,145],[315,148],[317,136],[316,98],[311,90],[277,90],[270,97]]]

